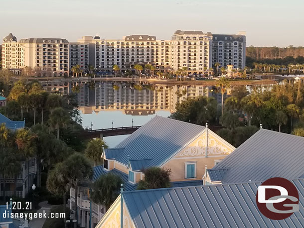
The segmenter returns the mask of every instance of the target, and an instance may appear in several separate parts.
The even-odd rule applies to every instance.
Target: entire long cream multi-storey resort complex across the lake
[[[122,39],[83,36],[77,42],[66,39],[29,38],[17,41],[10,33],[3,38],[2,68],[19,73],[31,68],[31,75],[67,76],[79,65],[89,73],[89,65],[100,71],[113,72],[118,65],[122,72],[134,65],[151,64],[156,70],[176,71],[186,67],[189,73],[202,73],[215,63],[227,68],[245,67],[246,36],[213,35],[211,32],[176,30],[170,40],[156,36],[129,35]],[[28,69],[26,69],[28,70]]]

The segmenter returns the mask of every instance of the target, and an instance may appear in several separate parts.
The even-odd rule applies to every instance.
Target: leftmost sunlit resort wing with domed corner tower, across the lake
[[[69,42],[66,39],[29,38],[17,41],[11,33],[3,39],[2,68],[27,75],[68,76]]]

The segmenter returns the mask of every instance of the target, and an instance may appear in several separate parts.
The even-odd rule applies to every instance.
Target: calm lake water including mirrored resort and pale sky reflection
[[[43,85],[49,92],[77,94],[84,128],[101,129],[139,126],[155,115],[168,117],[175,112],[177,103],[198,96],[214,97],[221,104],[221,93],[215,86],[164,86],[139,82],[50,82]],[[271,85],[265,86],[271,88]],[[247,87],[251,91],[251,87]],[[224,99],[229,96],[227,90]],[[128,135],[105,137],[110,147],[116,146]]]

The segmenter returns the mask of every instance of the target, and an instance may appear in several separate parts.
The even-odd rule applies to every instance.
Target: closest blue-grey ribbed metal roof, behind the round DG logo
[[[304,180],[293,183],[300,211],[285,220],[260,213],[256,193],[261,182],[131,191],[123,198],[136,228],[304,227]]]

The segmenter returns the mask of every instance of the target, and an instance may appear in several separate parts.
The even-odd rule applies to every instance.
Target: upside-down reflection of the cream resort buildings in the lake
[[[131,82],[76,82],[47,83],[43,88],[51,93],[77,94],[83,114],[101,111],[122,111],[128,115],[149,115],[157,111],[175,112],[176,104],[187,98],[214,97],[221,103],[221,94],[215,86],[165,86]],[[226,92],[229,95],[230,89]]]

